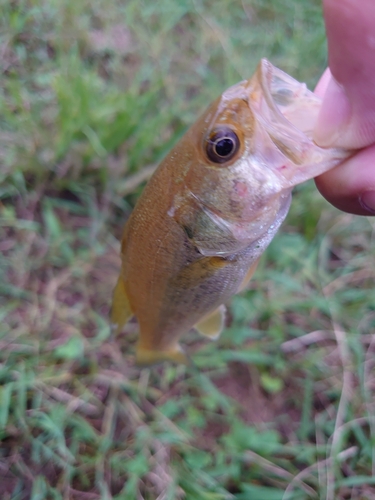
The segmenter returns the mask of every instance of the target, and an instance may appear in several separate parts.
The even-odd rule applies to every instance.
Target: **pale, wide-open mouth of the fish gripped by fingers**
[[[351,152],[320,148],[313,140],[322,99],[284,71],[262,59],[247,81],[248,104],[258,129],[272,143],[269,167],[293,187],[316,177]]]

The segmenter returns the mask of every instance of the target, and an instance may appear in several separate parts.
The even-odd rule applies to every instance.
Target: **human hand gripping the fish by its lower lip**
[[[314,139],[322,147],[363,148],[315,179],[340,210],[375,215],[375,1],[323,0],[329,68]]]

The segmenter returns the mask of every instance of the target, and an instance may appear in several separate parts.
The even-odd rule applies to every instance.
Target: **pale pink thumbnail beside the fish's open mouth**
[[[350,103],[344,88],[332,77],[314,130],[314,140],[322,147],[334,146],[350,118]]]

